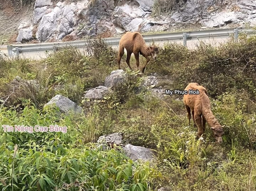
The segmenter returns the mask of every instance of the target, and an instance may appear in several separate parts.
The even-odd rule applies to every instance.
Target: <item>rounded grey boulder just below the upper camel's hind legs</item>
[[[105,79],[104,85],[107,88],[112,88],[117,86],[119,83],[125,81],[125,72],[122,69],[112,71],[109,76]]]

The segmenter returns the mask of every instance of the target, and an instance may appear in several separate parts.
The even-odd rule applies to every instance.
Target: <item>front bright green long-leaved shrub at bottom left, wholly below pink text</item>
[[[100,151],[94,145],[85,145],[83,149],[61,146],[60,149],[62,154],[55,154],[44,147],[36,150],[21,145],[13,151],[13,147],[1,144],[0,188],[146,191],[156,176],[147,164],[139,166],[114,149]]]

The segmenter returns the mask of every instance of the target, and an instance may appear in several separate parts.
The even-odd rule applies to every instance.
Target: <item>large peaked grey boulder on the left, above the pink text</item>
[[[80,106],[62,95],[54,96],[48,103],[45,104],[45,106],[52,104],[56,104],[60,111],[65,113],[68,113],[69,111],[74,111],[74,113],[82,113],[82,108]]]

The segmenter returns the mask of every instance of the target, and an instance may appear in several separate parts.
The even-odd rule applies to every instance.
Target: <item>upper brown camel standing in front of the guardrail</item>
[[[159,52],[158,48],[155,45],[148,46],[139,32],[128,31],[121,37],[119,42],[119,53],[117,57],[117,64],[119,69],[120,69],[120,62],[124,54],[124,48],[127,51],[126,63],[131,70],[132,70],[132,67],[130,66],[130,58],[132,53],[134,53],[134,56],[136,59],[137,69],[139,69],[139,65],[140,65],[139,53],[147,59],[146,64],[141,69],[142,73],[144,73],[145,67],[150,61],[150,56],[152,59],[155,60],[156,54]]]

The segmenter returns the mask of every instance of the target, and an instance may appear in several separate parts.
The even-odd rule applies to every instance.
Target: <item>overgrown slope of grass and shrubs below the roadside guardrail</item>
[[[94,56],[63,49],[40,61],[0,60],[0,125],[68,127],[67,133],[1,128],[2,190],[256,190],[255,36],[240,35],[239,42],[230,39],[218,47],[202,43],[195,50],[166,43],[157,62],[147,66],[146,74],[169,76],[158,86],[206,86],[211,109],[225,125],[223,144],[216,143],[208,126],[203,139],[196,138],[181,99],[159,99],[150,91],[135,94],[141,78],[128,69],[126,83],[103,100],[87,103],[84,91],[103,85],[117,69],[115,50],[100,39],[92,46]],[[131,63],[135,67],[133,57]],[[16,89],[11,81],[17,75],[39,87]],[[56,115],[58,108],[43,108],[56,94],[75,101],[85,114]],[[123,133],[126,143],[152,149],[153,166],[129,160],[121,148],[97,147],[101,135],[114,132]]]

